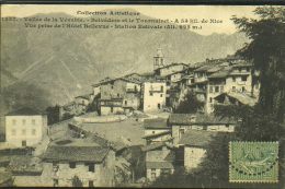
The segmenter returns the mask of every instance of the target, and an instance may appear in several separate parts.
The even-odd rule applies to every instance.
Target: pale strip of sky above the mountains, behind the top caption
[[[1,16],[31,16],[36,13],[65,12],[77,15],[77,11],[103,11],[109,9],[134,9],[141,14],[156,19],[216,19],[221,24],[205,24],[204,29],[195,31],[201,35],[213,33],[232,34],[237,32],[230,17],[255,17],[254,5],[49,5],[49,4],[4,4],[1,5]],[[77,15],[79,16],[79,15]]]

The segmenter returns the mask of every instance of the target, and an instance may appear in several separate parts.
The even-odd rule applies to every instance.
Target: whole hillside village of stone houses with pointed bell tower
[[[92,92],[49,113],[29,107],[5,116],[0,145],[1,186],[148,186],[184,167],[198,168],[213,137],[239,120],[215,107],[253,106],[259,72],[239,57],[169,63],[162,49],[153,70],[92,84]],[[178,114],[192,93],[203,107]]]

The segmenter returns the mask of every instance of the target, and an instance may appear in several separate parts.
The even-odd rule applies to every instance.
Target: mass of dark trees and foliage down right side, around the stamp
[[[230,184],[228,181],[228,142],[281,141],[284,149],[284,108],[285,108],[285,8],[256,8],[260,20],[233,17],[233,22],[251,39],[237,54],[253,61],[254,71],[259,71],[261,83],[260,99],[254,107],[217,106],[215,115],[240,120],[232,135],[213,139],[200,169],[189,174],[175,172],[168,178],[160,178],[153,187],[187,188],[280,188],[284,185],[284,162],[280,161],[280,184]],[[190,105],[190,104],[189,104]],[[280,156],[284,156],[284,150]],[[176,181],[179,180],[179,181]],[[173,185],[175,184],[175,185]]]

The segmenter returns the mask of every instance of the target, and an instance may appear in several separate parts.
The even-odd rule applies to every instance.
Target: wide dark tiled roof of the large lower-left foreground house
[[[47,147],[44,161],[68,161],[68,162],[96,162],[101,163],[106,154],[107,147],[102,146],[59,146]]]

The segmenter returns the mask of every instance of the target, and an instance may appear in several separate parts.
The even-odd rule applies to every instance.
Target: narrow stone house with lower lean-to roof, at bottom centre
[[[174,173],[175,153],[173,146],[166,142],[157,142],[144,146],[146,152],[146,178],[155,181],[158,177]]]

